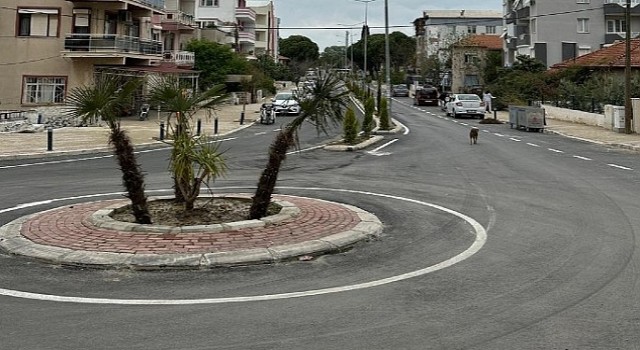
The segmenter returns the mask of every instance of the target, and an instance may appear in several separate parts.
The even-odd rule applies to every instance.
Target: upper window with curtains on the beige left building
[[[59,9],[18,9],[18,36],[57,37]]]

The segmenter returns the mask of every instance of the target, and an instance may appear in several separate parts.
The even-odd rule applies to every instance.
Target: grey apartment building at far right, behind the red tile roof
[[[632,0],[631,31],[640,34],[640,7]],[[505,63],[517,55],[548,67],[625,37],[626,0],[505,0]]]

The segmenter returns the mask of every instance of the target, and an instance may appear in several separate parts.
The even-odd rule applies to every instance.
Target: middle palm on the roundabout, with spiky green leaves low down
[[[192,92],[175,77],[166,77],[152,83],[150,100],[175,116],[173,149],[169,170],[173,176],[175,200],[192,210],[200,195],[202,184],[226,172],[225,159],[219,145],[207,143],[194,136],[193,116],[199,110],[212,110],[227,98],[224,85],[217,85],[201,93]]]

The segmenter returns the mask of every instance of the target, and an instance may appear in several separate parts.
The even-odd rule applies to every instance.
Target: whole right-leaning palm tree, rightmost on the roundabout
[[[309,121],[318,133],[326,134],[329,124],[338,125],[342,121],[343,113],[348,106],[349,91],[337,76],[321,76],[311,93],[311,96],[299,99],[300,114],[282,128],[269,147],[269,159],[251,203],[250,219],[260,219],[267,215],[280,167],[287,157],[287,151],[297,143],[298,130],[303,123]]]

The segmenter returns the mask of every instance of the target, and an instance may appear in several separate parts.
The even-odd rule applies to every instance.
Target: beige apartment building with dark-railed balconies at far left
[[[173,5],[172,15],[185,9]],[[60,115],[68,91],[96,73],[171,74],[195,86],[197,72],[185,69],[193,56],[181,56],[178,41],[165,54],[162,42],[163,25],[168,33],[190,31],[188,16],[163,22],[164,15],[164,0],[3,0],[0,108]]]

